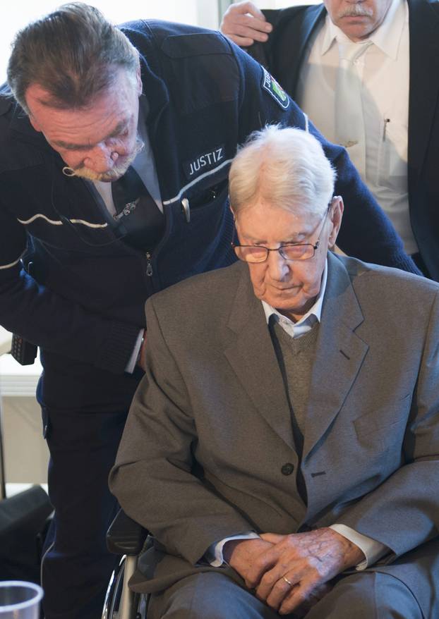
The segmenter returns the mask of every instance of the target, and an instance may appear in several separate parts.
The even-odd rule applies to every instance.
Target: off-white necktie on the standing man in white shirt
[[[366,176],[366,138],[361,79],[356,61],[371,44],[372,41],[339,43],[339,66],[335,86],[336,140],[348,149],[349,157],[363,178]]]

